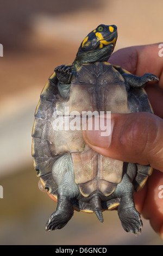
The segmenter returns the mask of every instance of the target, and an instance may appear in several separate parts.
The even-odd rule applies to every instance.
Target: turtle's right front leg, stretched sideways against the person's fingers
[[[149,81],[156,81],[159,78],[153,74],[146,73],[143,76],[135,76],[132,74],[122,74],[127,87],[142,88],[146,86]]]

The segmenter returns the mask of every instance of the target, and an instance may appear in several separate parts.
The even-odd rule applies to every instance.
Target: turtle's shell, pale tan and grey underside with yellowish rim
[[[103,113],[152,112],[144,89],[126,90],[121,75],[124,72],[127,71],[107,62],[83,64],[73,74],[68,100],[63,99],[59,94],[55,72],[49,77],[35,111],[32,155],[34,167],[38,171],[37,176],[43,188],[54,200],[57,201],[58,182],[53,178],[52,167],[55,161],[65,154],[71,154],[74,179],[84,197],[88,197],[96,190],[101,191],[104,196],[109,196],[121,182],[124,166],[127,163],[102,156],[89,148],[83,139],[81,116],[88,114],[89,111],[95,114],[102,111]],[[70,125],[73,124],[74,127],[75,123],[79,124],[78,129],[70,129],[72,128]],[[62,124],[64,127],[59,126],[57,129],[57,124]],[[137,174],[133,185],[135,191],[139,191],[148,175],[151,175],[152,168],[139,164],[135,166]],[[132,165],[128,168],[128,172],[130,175]],[[87,202],[73,199],[72,203],[74,209],[78,211],[92,212]],[[120,199],[111,199],[103,208],[110,210],[119,203]]]

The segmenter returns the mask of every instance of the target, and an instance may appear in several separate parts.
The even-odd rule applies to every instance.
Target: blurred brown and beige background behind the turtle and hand
[[[64,229],[46,233],[56,204],[37,187],[31,156],[34,112],[55,66],[71,63],[99,24],[118,27],[116,49],[162,42],[162,0],[0,1],[0,245],[163,245],[143,220],[126,233],[116,211],[75,212]]]

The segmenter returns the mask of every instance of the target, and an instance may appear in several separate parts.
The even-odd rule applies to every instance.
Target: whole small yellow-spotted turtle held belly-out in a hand
[[[135,76],[108,63],[116,40],[115,25],[99,25],[82,41],[74,62],[55,68],[42,90],[32,155],[42,188],[58,202],[46,230],[63,228],[74,209],[95,212],[103,222],[102,211],[118,207],[124,230],[141,232],[133,193],[145,185],[152,168],[98,154],[85,143],[82,122],[77,129],[83,114],[152,113],[143,87],[158,77]]]

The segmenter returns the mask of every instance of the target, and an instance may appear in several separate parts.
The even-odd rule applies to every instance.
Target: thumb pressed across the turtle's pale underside
[[[95,124],[96,120],[95,117]],[[107,122],[106,122],[107,123]],[[163,172],[163,120],[147,112],[111,114],[111,134],[83,131],[85,142],[98,153],[124,162],[150,164]]]

